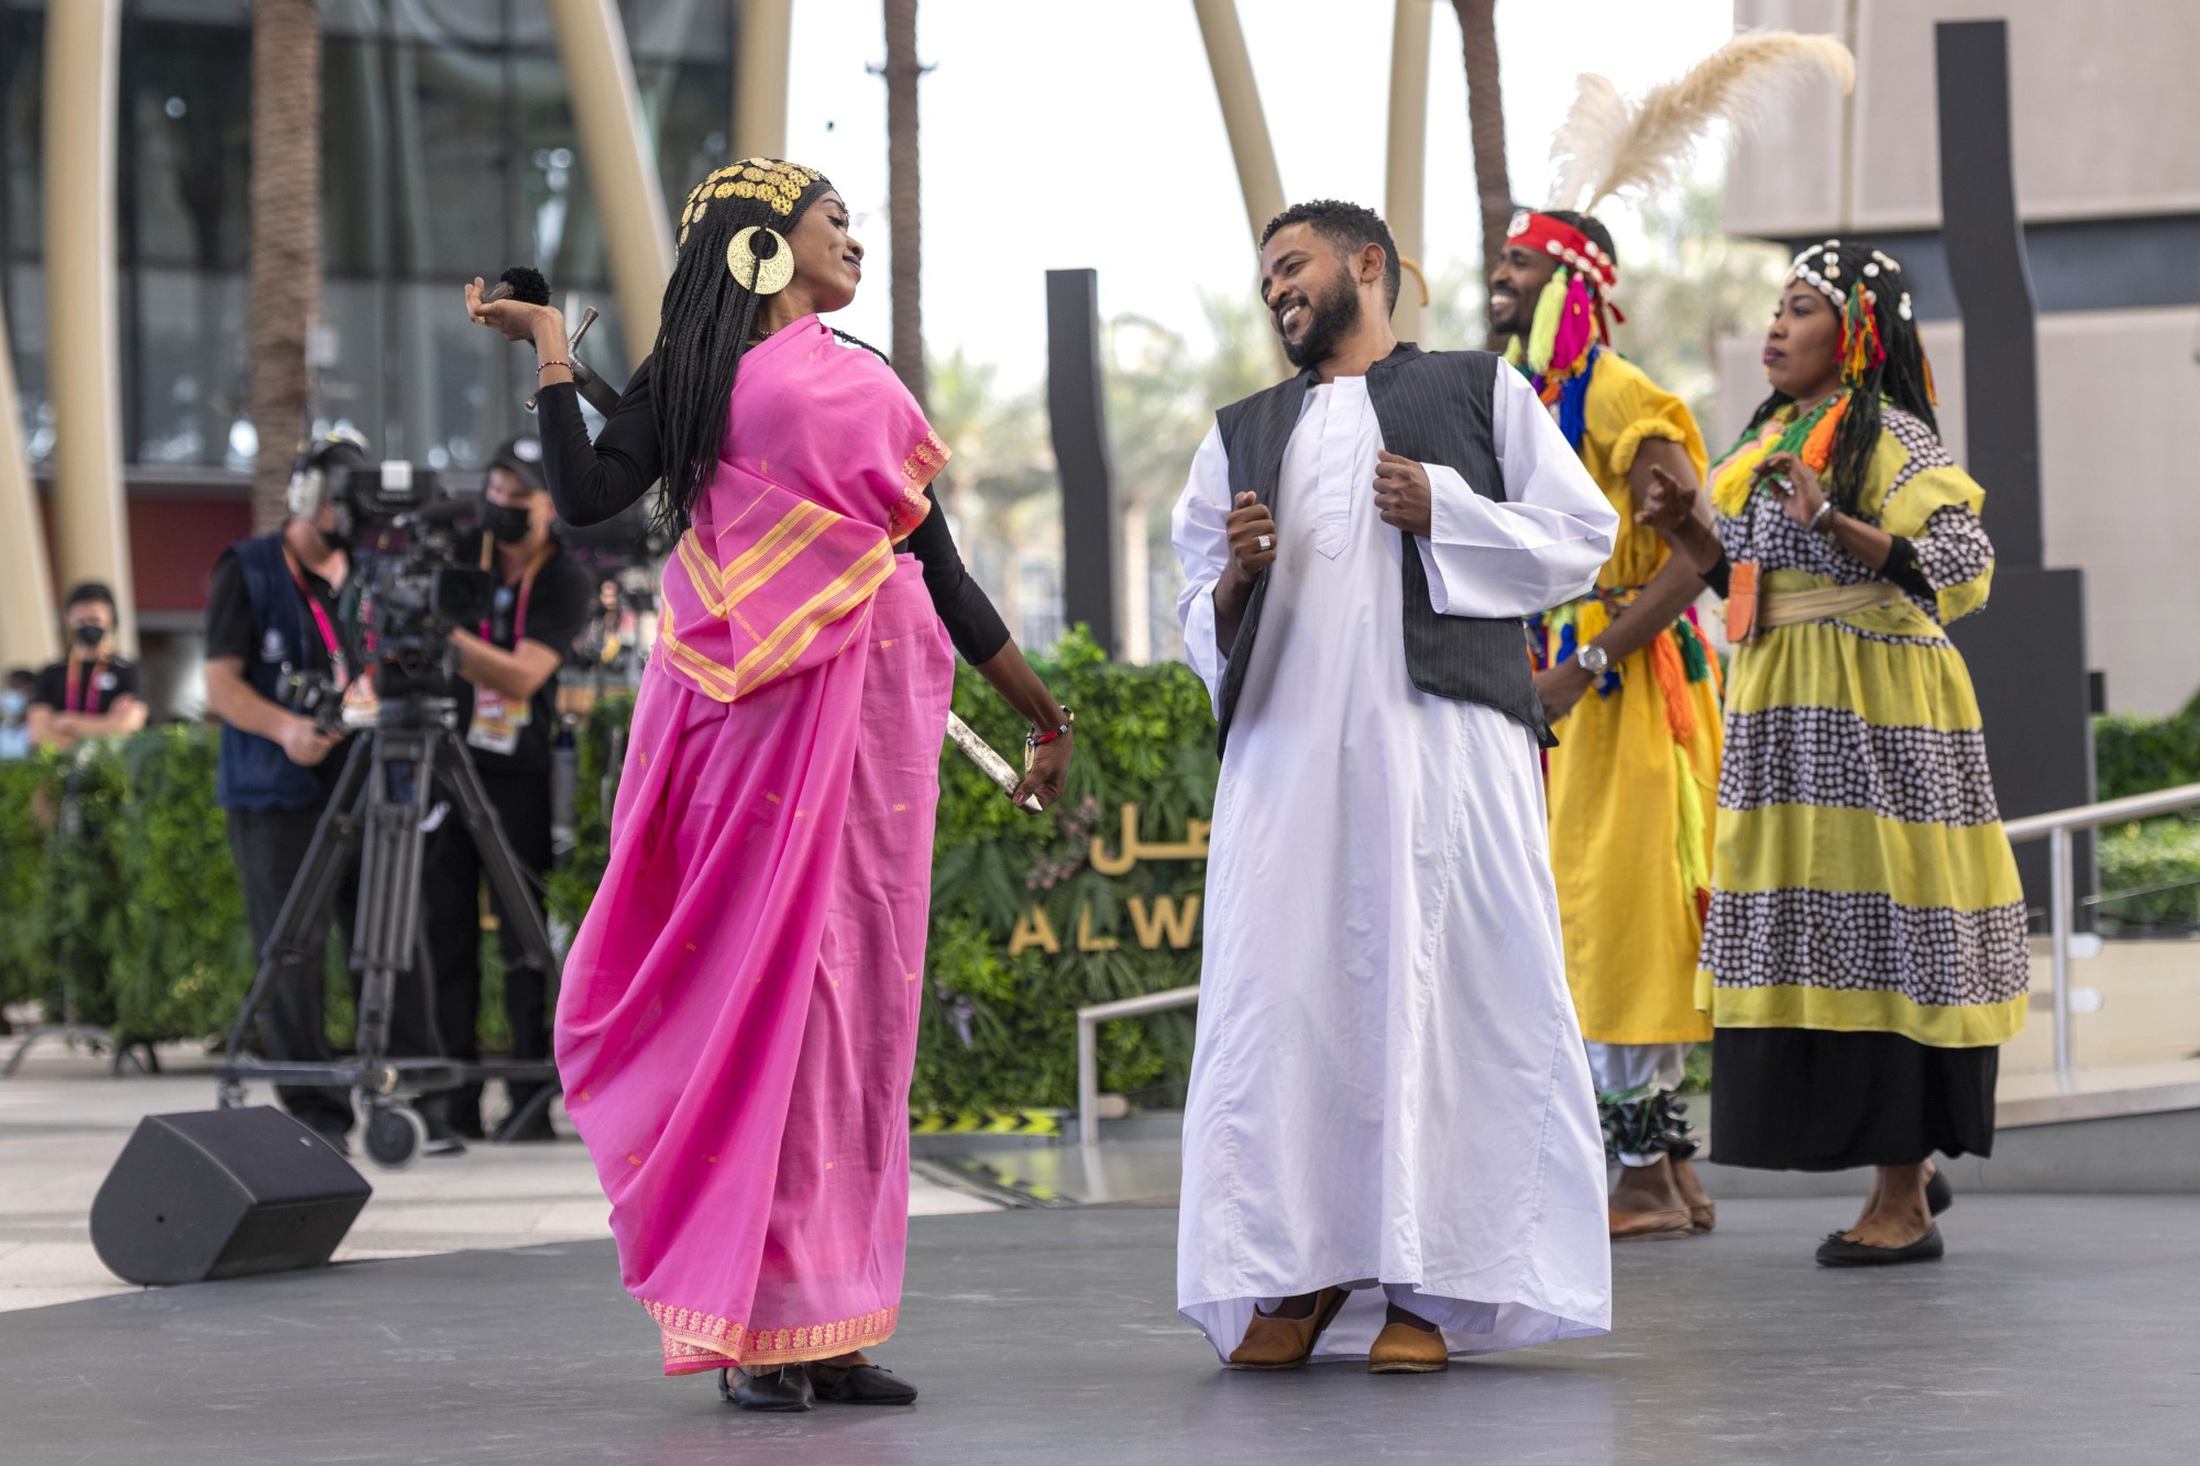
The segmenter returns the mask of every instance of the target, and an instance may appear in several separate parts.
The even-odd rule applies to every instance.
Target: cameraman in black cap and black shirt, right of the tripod
[[[453,632],[458,652],[458,726],[475,773],[497,810],[504,834],[530,885],[550,869],[550,744],[557,733],[557,671],[565,649],[587,625],[594,577],[552,533],[557,506],[543,486],[541,442],[513,438],[497,449],[482,489],[482,537],[460,546],[477,555],[497,592],[480,634]],[[429,836],[422,885],[427,889],[429,962],[436,969],[436,1015],[453,1059],[480,1057],[482,1015],[482,858],[462,821],[447,819]],[[535,898],[537,913],[541,896]],[[513,1030],[513,1059],[550,1057],[550,982],[519,966],[519,942],[497,900],[504,944],[504,1015]],[[513,1083],[513,1109],[539,1083]],[[482,1087],[453,1090],[444,1116],[460,1136],[482,1136]],[[554,1140],[548,1112],[515,1140]]]

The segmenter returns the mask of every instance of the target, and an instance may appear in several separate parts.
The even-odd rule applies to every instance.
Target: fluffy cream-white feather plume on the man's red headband
[[[1621,192],[1646,196],[1679,183],[1681,165],[1712,123],[1747,130],[1806,75],[1830,75],[1846,95],[1857,84],[1857,62],[1830,35],[1745,31],[1635,103],[1608,77],[1582,75],[1573,110],[1551,139],[1558,169],[1551,207],[1591,211]]]

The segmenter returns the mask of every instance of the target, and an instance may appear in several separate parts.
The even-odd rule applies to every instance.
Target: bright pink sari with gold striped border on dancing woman
[[[946,462],[816,317],[755,346],[664,566],[565,1105],[664,1371],[893,1334],[953,654],[909,555]]]

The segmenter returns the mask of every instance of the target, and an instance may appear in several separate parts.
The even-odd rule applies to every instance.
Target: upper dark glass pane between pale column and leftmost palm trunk
[[[242,269],[251,238],[251,31],[123,24],[125,255]]]

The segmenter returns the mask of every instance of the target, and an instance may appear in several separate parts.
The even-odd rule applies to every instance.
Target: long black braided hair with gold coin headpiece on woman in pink
[[[697,183],[680,211],[680,253],[664,286],[658,341],[651,352],[651,398],[658,409],[658,453],[664,464],[658,517],[673,535],[686,533],[695,500],[717,473],[733,379],[757,332],[757,313],[766,299],[735,280],[726,264],[726,247],[739,231],[757,225],[748,247],[757,255],[761,275],[763,264],[788,249],[785,238],[794,233],[810,205],[827,192],[832,180],[814,167],[746,158]],[[876,346],[840,330],[834,335],[884,361],[884,352]]]

